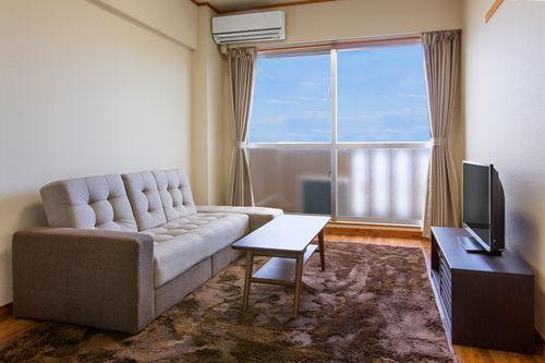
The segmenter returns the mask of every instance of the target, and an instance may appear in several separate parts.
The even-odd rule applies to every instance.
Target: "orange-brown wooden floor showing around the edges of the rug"
[[[431,244],[428,240],[414,238],[412,235],[408,237],[393,237],[393,235],[380,235],[380,234],[339,234],[339,233],[327,233],[326,234],[326,250],[327,242],[358,242],[358,243],[372,243],[372,244],[386,244],[386,245],[398,245],[398,246],[412,246],[422,249],[424,252],[426,266],[429,268],[431,263]],[[13,317],[11,314],[0,316],[0,342],[16,337],[19,334],[24,332],[32,327],[39,324],[38,322],[28,319],[19,319]],[[453,358],[456,362],[464,363],[511,363],[511,362],[532,362],[532,363],[545,363],[545,349],[543,341],[538,340],[535,346],[534,354],[518,354],[509,353],[504,351],[479,349],[462,346],[452,346]]]

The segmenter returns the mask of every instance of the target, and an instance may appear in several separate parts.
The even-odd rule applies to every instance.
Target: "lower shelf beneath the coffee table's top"
[[[303,265],[318,249],[317,244],[308,244],[303,257]],[[272,257],[251,278],[251,282],[295,286],[295,258]]]

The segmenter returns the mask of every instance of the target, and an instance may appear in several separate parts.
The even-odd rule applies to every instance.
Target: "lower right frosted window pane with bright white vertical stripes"
[[[339,149],[338,217],[420,220],[428,159],[428,148]]]

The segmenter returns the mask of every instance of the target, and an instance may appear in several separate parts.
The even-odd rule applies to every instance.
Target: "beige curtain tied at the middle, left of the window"
[[[229,49],[234,148],[231,158],[227,204],[233,206],[254,206],[254,192],[245,144],[250,114],[252,113],[256,58],[255,48]]]

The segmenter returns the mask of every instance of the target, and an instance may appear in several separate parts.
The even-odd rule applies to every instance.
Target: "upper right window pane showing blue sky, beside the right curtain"
[[[337,53],[340,142],[425,142],[426,85],[422,47]]]

